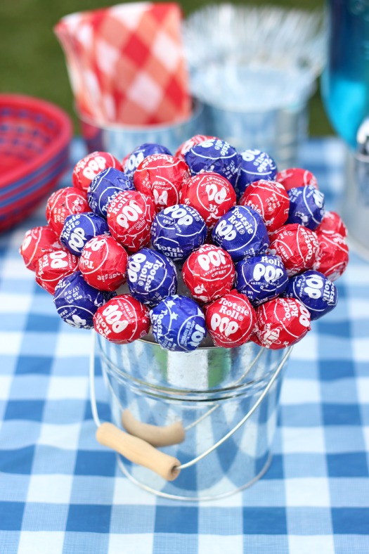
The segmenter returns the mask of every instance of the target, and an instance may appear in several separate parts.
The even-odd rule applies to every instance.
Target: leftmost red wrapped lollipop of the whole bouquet
[[[59,238],[48,225],[34,227],[25,233],[19,253],[25,262],[27,269],[36,271],[37,262],[41,256],[48,252],[63,250]]]

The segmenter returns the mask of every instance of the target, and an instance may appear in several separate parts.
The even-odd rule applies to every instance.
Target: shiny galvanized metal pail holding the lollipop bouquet
[[[124,475],[159,496],[197,501],[248,487],[271,462],[290,351],[249,342],[233,349],[200,347],[185,354],[164,351],[147,340],[121,346],[98,337],[112,420],[125,430],[101,425],[91,363],[98,440],[124,454],[117,458]],[[104,425],[115,434],[112,442],[99,437]],[[128,441],[128,451],[127,438],[133,441],[133,446]],[[141,448],[141,458],[135,457]],[[132,449],[131,460],[142,465],[127,459]],[[167,478],[155,466],[160,456],[174,460]]]

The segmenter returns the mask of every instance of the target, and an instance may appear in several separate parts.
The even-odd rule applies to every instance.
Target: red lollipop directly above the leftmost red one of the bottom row
[[[84,245],[79,271],[91,287],[117,290],[126,281],[127,262],[127,252],[115,238],[98,235]]]

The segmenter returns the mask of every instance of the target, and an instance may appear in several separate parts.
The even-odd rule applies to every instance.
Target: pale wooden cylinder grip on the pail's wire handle
[[[179,460],[156,450],[138,437],[132,437],[112,423],[102,423],[96,431],[96,439],[100,444],[122,454],[127,460],[143,465],[167,481],[174,481],[179,476],[180,470],[176,469],[176,466],[181,465]]]

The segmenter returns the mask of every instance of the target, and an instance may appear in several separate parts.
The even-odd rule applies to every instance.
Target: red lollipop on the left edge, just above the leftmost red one
[[[59,236],[68,215],[91,212],[86,195],[72,186],[60,188],[48,199],[46,219],[53,231]]]

